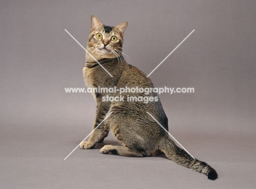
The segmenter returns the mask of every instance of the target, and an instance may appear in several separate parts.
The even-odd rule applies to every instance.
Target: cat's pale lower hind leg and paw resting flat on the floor
[[[128,157],[143,157],[144,152],[139,150],[129,149],[127,146],[105,145],[100,150],[100,153],[128,156]]]

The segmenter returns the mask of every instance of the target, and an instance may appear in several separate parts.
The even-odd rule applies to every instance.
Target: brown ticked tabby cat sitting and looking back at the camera
[[[91,17],[91,33],[86,50],[86,63],[83,68],[85,84],[88,87],[154,88],[152,81],[138,68],[126,63],[123,57],[123,37],[128,22],[116,27],[103,25],[96,16]],[[97,61],[95,61],[97,60]],[[100,63],[100,64],[98,64]],[[112,76],[110,76],[103,66]],[[207,163],[194,160],[168,137],[168,133],[149,116],[150,113],[167,131],[168,119],[157,93],[125,91],[123,101],[103,101],[103,97],[120,96],[120,93],[96,91],[93,96],[97,103],[95,129],[108,115],[107,119],[90,135],[88,141],[80,143],[81,149],[93,149],[97,142],[107,137],[109,130],[123,146],[105,145],[100,153],[144,157],[164,153],[169,160],[208,176],[218,178],[216,170]],[[130,97],[153,97],[152,102],[128,102]],[[148,112],[148,113],[147,113]],[[111,113],[111,114],[110,114]],[[109,115],[110,114],[110,115]]]

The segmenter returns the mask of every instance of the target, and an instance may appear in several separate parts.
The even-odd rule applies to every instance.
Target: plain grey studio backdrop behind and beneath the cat
[[[254,188],[255,1],[0,1],[0,188]],[[84,87],[90,17],[128,21],[126,61],[162,94],[170,132],[219,174],[216,181],[165,156],[129,158],[75,150],[96,104]]]

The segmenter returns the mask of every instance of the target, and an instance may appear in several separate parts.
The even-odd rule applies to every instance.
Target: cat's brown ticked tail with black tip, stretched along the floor
[[[180,149],[169,137],[161,141],[159,149],[165,153],[166,157],[173,162],[187,167],[196,172],[205,174],[208,179],[216,180],[218,174],[211,166],[207,163],[199,160],[194,160],[186,151]]]

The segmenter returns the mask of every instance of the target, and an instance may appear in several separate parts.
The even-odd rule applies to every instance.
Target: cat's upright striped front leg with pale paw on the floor
[[[88,141],[82,141],[80,143],[80,149],[93,149],[97,142],[101,142],[107,137],[109,132],[109,126],[106,123],[101,123],[106,117],[109,110],[108,103],[97,102],[96,118],[92,130],[94,132],[90,135]],[[98,126],[101,123],[100,126]]]

